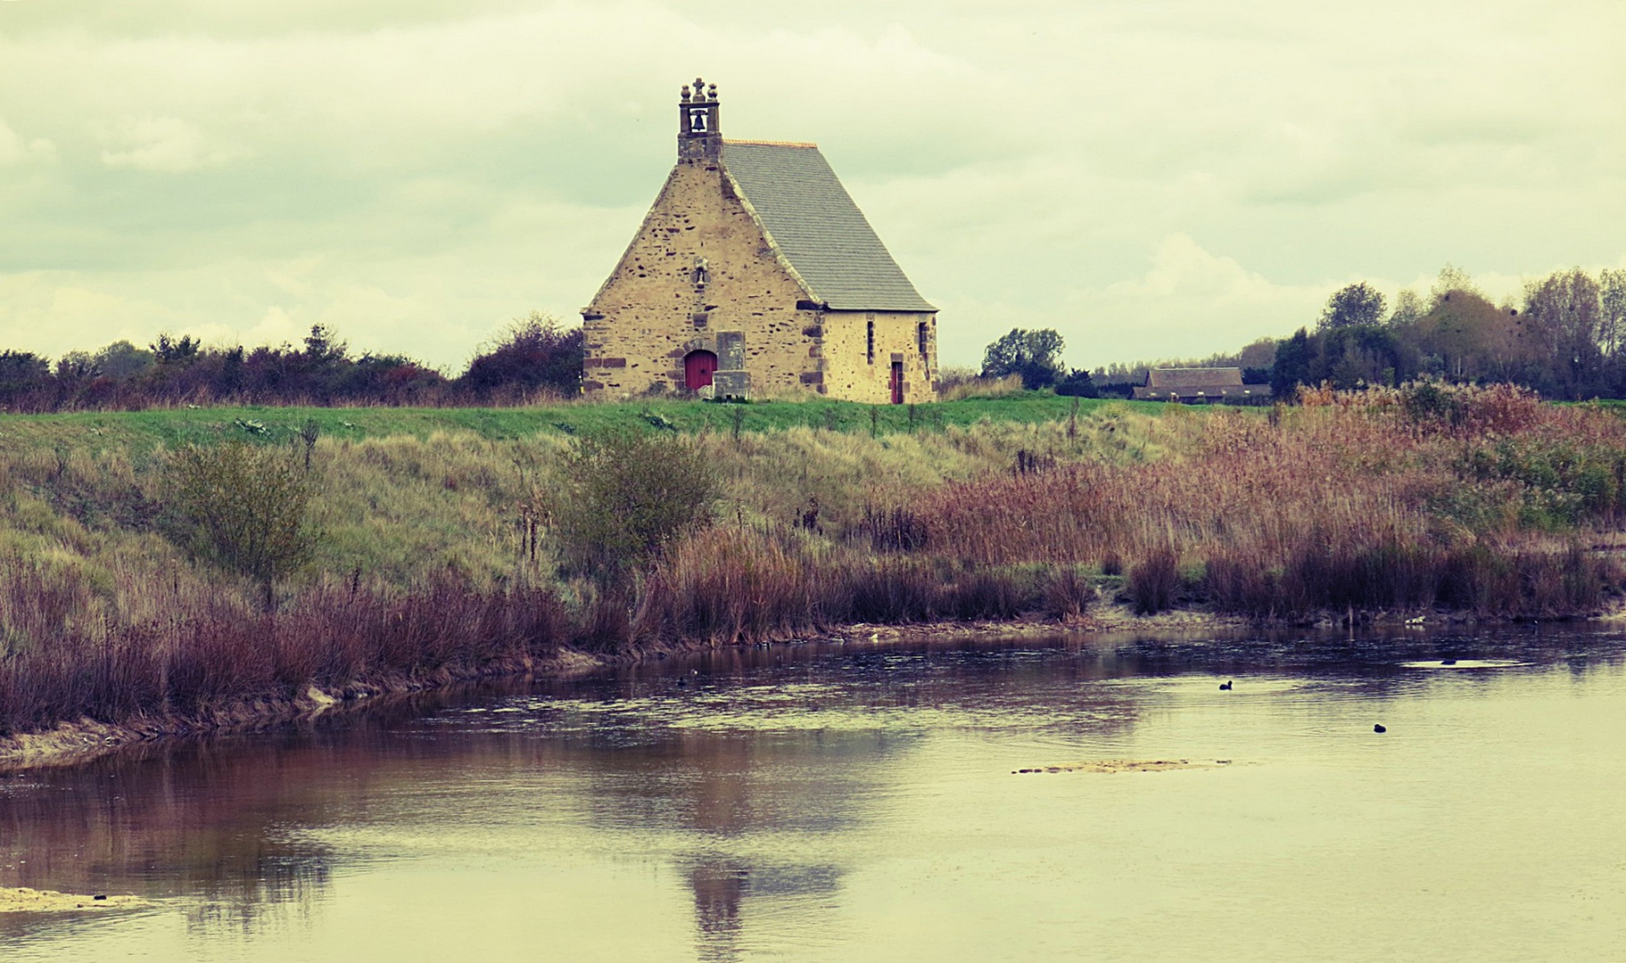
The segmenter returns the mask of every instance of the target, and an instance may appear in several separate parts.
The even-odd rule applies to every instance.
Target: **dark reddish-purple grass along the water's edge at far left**
[[[20,587],[5,577],[8,597]],[[0,662],[0,734],[80,716],[208,722],[311,685],[519,669],[569,638],[566,607],[548,589],[480,592],[450,579],[402,597],[325,586],[278,613],[205,594],[172,602],[167,618],[65,626]]]

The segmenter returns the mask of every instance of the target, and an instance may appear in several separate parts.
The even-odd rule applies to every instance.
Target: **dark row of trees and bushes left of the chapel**
[[[146,348],[127,340],[68,351],[55,363],[0,351],[0,408],[140,410],[180,403],[242,405],[504,405],[574,397],[582,332],[543,314],[514,322],[449,377],[402,355],[353,355],[327,325],[299,346],[205,346],[163,333]]]

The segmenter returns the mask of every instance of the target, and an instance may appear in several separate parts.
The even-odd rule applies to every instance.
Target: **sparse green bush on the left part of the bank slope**
[[[293,449],[229,441],[180,449],[169,465],[171,538],[193,558],[259,582],[273,608],[276,582],[315,551],[312,475]]]

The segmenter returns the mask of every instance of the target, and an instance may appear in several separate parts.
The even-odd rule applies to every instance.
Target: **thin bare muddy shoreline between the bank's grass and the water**
[[[1359,625],[1418,625],[1416,617],[1390,612],[1350,613]],[[1460,612],[1436,612],[1424,617],[1428,623],[1496,623]],[[1603,612],[1577,615],[1577,621],[1626,620],[1626,597],[1611,599]],[[844,643],[888,646],[922,639],[993,639],[1033,638],[1057,633],[1101,634],[1138,631],[1223,631],[1268,628],[1286,625],[1337,626],[1343,620],[1332,613],[1319,620],[1257,620],[1241,615],[1223,615],[1200,608],[1172,608],[1156,615],[1138,615],[1122,602],[1098,604],[1070,620],[1015,618],[1005,621],[930,621],[906,625],[854,623],[818,633],[815,636],[789,636],[779,643]],[[119,750],[154,743],[166,739],[197,735],[231,735],[311,722],[317,717],[364,712],[380,704],[382,696],[428,693],[457,685],[494,682],[499,678],[572,678],[611,669],[636,665],[665,656],[689,654],[750,646],[751,643],[662,641],[637,646],[631,651],[603,656],[561,647],[551,659],[496,659],[480,665],[442,667],[434,672],[390,673],[358,678],[341,688],[324,690],[311,683],[294,698],[260,696],[233,701],[190,716],[140,717],[124,722],[98,722],[78,719],[59,722],[44,732],[15,734],[0,739],[0,774],[28,769],[78,766],[117,753]]]

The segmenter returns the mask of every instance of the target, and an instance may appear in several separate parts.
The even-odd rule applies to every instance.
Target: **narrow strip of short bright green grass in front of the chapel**
[[[1080,399],[1078,413],[1106,405],[1158,413],[1154,402]],[[979,421],[1036,425],[1067,418],[1073,399],[1028,392],[1003,399],[966,399],[912,405],[859,405],[854,402],[754,402],[746,405],[709,402],[613,402],[559,403],[533,408],[167,408],[151,412],[76,412],[68,415],[0,415],[0,446],[86,444],[98,439],[151,447],[163,444],[210,442],[224,438],[288,441],[314,420],[324,438],[361,441],[367,438],[436,433],[473,433],[489,441],[535,434],[576,434],[611,426],[672,426],[678,431],[728,433],[740,418],[740,431],[784,431],[787,428],[831,428],[844,433],[896,434],[969,426]],[[872,421],[873,416],[873,421]],[[255,428],[255,425],[263,426]]]

